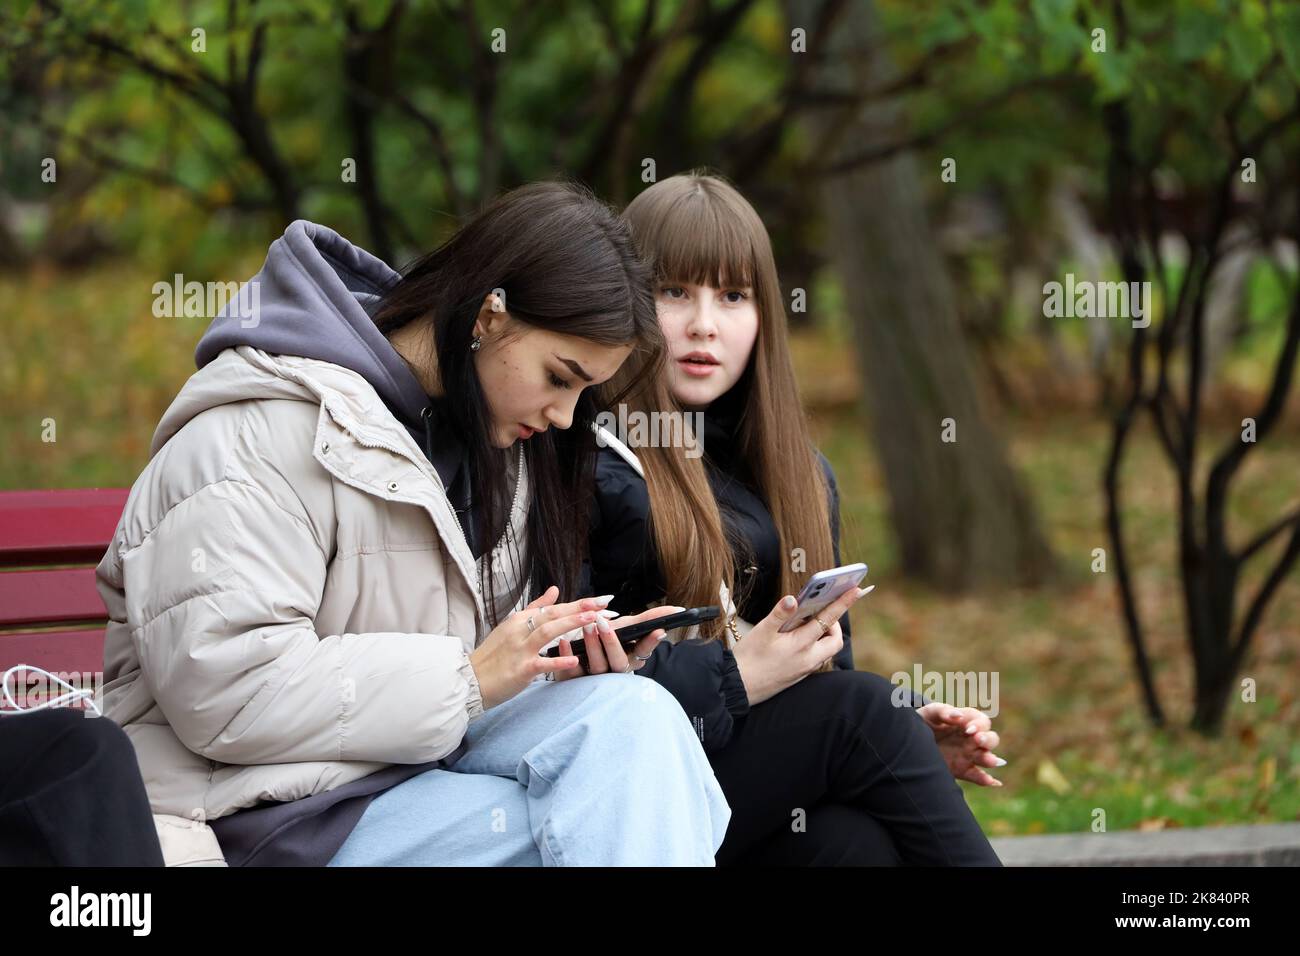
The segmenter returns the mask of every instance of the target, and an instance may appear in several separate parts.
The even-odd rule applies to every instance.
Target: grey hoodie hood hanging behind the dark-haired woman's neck
[[[422,432],[429,395],[367,312],[396,278],[391,267],[333,229],[295,220],[250,280],[256,293],[242,297],[246,308],[222,310],[199,339],[194,362],[202,369],[240,345],[332,362],[363,376],[403,425]]]

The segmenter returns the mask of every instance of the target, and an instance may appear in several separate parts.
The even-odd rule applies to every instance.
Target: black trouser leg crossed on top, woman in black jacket
[[[933,732],[894,691],[879,674],[832,671],[751,708],[712,754],[732,808],[719,864],[829,803],[870,813],[909,865],[1000,865]]]

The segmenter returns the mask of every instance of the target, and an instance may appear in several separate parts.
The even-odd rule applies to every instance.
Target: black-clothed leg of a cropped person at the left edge
[[[0,865],[162,865],[135,748],[113,721],[0,717]]]

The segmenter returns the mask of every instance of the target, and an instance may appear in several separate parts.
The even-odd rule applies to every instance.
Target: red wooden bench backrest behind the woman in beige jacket
[[[0,674],[27,663],[60,676],[78,674],[79,685],[88,689],[103,682],[108,613],[95,589],[95,566],[108,550],[127,493],[0,492]],[[40,678],[31,687],[48,693],[25,696],[32,679],[30,672],[9,679],[22,706],[68,692]],[[0,705],[12,709],[3,696]]]

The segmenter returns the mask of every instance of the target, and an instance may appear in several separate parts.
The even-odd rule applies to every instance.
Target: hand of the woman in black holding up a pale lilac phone
[[[777,628],[794,615],[797,602],[792,594],[777,601],[772,613],[754,624],[732,649],[750,706],[797,684],[840,653],[844,648],[840,618],[866,593],[864,588],[849,588],[788,633]],[[816,618],[829,624],[824,635]]]

